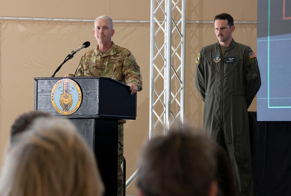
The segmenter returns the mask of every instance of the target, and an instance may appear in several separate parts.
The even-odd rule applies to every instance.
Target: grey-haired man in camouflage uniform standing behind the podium
[[[142,77],[140,68],[134,56],[126,48],[115,45],[111,41],[114,34],[113,21],[108,16],[99,16],[94,22],[93,34],[98,45],[92,50],[88,50],[81,57],[76,73],[66,75],[72,76],[104,76],[113,78],[130,87],[130,94],[142,90]],[[121,163],[123,161],[123,123],[118,121],[118,196],[123,193],[123,172]]]

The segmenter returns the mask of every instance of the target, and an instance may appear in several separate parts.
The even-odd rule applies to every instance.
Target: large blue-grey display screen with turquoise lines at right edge
[[[291,121],[291,0],[258,0],[259,121]]]

